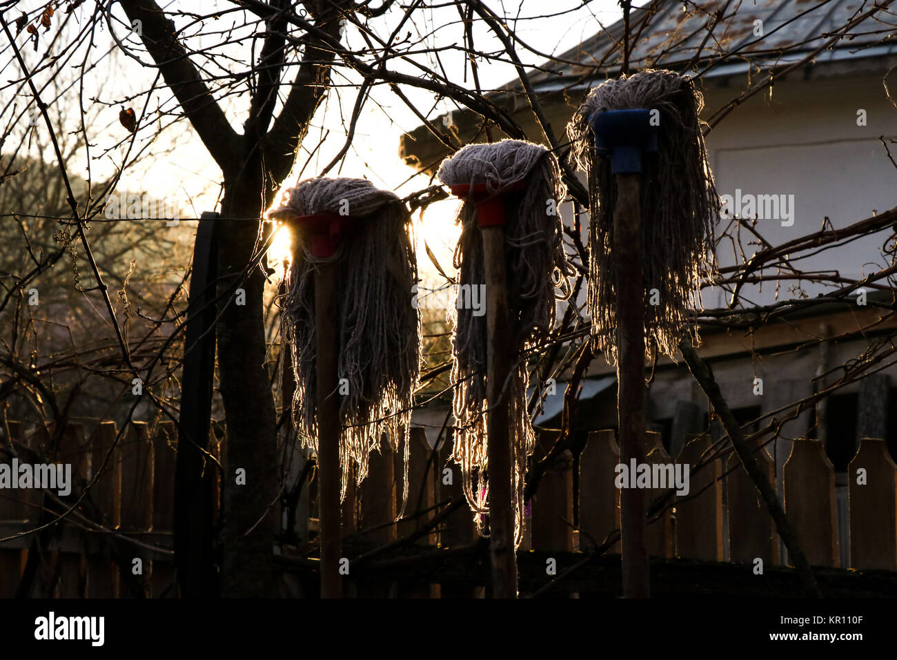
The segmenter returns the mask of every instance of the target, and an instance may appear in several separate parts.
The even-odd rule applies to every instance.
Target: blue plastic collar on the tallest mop
[[[588,118],[598,154],[611,155],[611,172],[641,172],[641,156],[658,150],[651,110],[599,110]]]

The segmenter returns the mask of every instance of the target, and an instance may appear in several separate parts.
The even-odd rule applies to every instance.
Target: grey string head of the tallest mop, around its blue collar
[[[658,153],[645,154],[641,182],[641,240],[645,285],[645,348],[673,356],[690,309],[701,308],[701,277],[714,270],[713,224],[719,198],[707,162],[699,113],[701,93],[691,78],[640,71],[608,80],[588,93],[567,127],[573,162],[588,173],[588,308],[595,346],[616,364],[614,202],[610,155],[595,151],[588,118],[598,110],[660,111]],[[652,289],[655,301],[652,304]],[[694,330],[692,329],[692,332]]]

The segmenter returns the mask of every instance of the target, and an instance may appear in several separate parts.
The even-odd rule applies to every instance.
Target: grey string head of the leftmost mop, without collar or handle
[[[290,189],[271,217],[316,214],[357,218],[332,257],[310,250],[308,232],[293,231],[292,265],[283,300],[285,339],[293,345],[296,391],[293,421],[304,446],[318,451],[314,274],[339,264],[337,296],[342,495],[354,463],[355,478],[368,473],[368,456],[388,434],[394,451],[404,445],[403,502],[408,491],[411,408],[420,374],[420,312],[412,305],[417,280],[411,217],[392,192],[364,179],[309,179]],[[345,380],[342,380],[345,379]],[[346,393],[346,390],[348,391]],[[400,514],[401,515],[401,514]]]

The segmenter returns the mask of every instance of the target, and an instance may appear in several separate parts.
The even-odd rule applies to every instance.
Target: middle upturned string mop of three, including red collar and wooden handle
[[[554,155],[518,140],[467,145],[441,164],[438,176],[465,199],[457,216],[459,296],[450,312],[452,456],[480,534],[489,515],[493,595],[512,598],[527,457],[536,445],[526,351],[553,327],[556,287],[569,295],[558,211],[565,189]],[[483,287],[485,314],[468,304],[471,287]]]

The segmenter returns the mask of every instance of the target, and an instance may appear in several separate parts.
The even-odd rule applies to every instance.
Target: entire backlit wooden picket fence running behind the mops
[[[73,424],[58,438],[44,430],[24,434],[17,423],[10,423],[9,428],[13,441],[21,444],[17,446],[39,450],[48,461],[71,463],[73,493],[81,492],[93,478],[116,437],[111,422],[100,424],[90,436],[84,435],[83,427]],[[556,431],[540,431],[536,458],[544,456],[556,438]],[[49,446],[54,440],[57,446]],[[176,440],[170,423],[156,425],[152,433],[146,424],[131,425],[88,497],[65,521],[0,542],[0,597],[15,595],[23,582],[30,584],[31,596],[177,594],[171,554]],[[649,462],[673,462],[660,445],[659,436],[649,434],[649,444]],[[708,436],[692,437],[675,462],[694,465],[709,447]],[[222,444],[213,439],[211,451],[221,455]],[[769,454],[761,450],[756,455],[772,479]],[[10,458],[8,440],[0,439],[0,462],[9,462]],[[766,564],[786,561],[779,552],[770,516],[745,472],[738,466],[723,476],[737,460],[734,455],[727,459],[728,464],[717,459],[692,475],[688,496],[678,498],[674,508],[655,516],[649,524],[650,554],[748,563],[760,558]],[[423,430],[415,428],[405,506],[408,517],[395,524],[402,500],[402,461],[403,457],[392,453],[386,444],[381,453],[372,454],[368,479],[347,492],[343,507],[346,539],[381,545],[404,538],[439,515],[437,505],[462,497],[461,475],[457,465],[448,461],[448,448],[434,452]],[[578,457],[563,453],[544,474],[527,505],[523,550],[585,551],[604,541],[619,527],[620,490],[614,486],[618,462],[613,431],[590,433]],[[784,466],[785,507],[802,548],[811,564],[838,567],[843,554],[839,552],[839,537],[847,538],[851,568],[897,570],[897,466],[884,441],[864,438],[848,475],[848,515],[840,524],[848,524],[849,530],[839,534],[839,517],[844,516],[836,515],[835,476],[823,444],[803,439],[794,442]],[[213,488],[217,511],[221,492],[218,480],[214,480]],[[311,480],[310,497],[304,498],[312,502],[310,515],[314,514],[314,490]],[[658,495],[660,491],[653,492],[650,498]],[[55,520],[64,511],[64,503],[71,506],[74,499],[51,497],[37,489],[0,489],[0,538]],[[420,512],[424,513],[414,515]],[[301,527],[309,530],[309,538],[298,541],[313,543],[317,520],[306,520],[308,525]],[[283,524],[290,525],[286,520]],[[438,532],[422,534],[417,540],[429,545],[439,543],[443,548],[473,541],[475,528],[466,506],[440,524]],[[617,542],[610,551],[619,552],[619,548]],[[136,559],[141,564],[139,572],[135,570]],[[364,584],[357,591],[353,586],[350,595],[353,593],[482,596],[483,588],[408,582]]]

